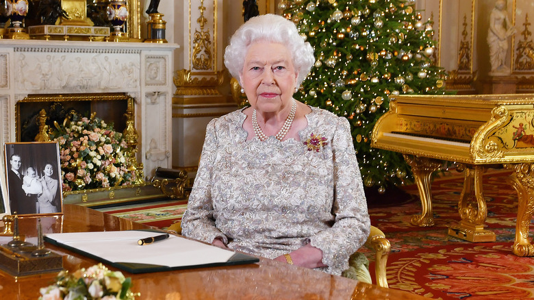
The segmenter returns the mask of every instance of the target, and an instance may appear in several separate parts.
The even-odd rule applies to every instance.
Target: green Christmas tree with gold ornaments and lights
[[[316,55],[294,97],[348,118],[368,190],[410,182],[403,155],[370,147],[370,137],[392,95],[444,93],[431,21],[403,0],[286,0],[279,8]]]

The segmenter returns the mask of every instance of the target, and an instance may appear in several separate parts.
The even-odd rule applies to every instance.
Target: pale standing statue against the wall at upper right
[[[495,7],[489,15],[487,44],[489,45],[489,62],[492,64],[490,75],[509,75],[511,73],[509,66],[505,65],[505,58],[508,50],[508,38],[516,33],[516,29],[511,26],[505,6],[505,0],[496,0]]]

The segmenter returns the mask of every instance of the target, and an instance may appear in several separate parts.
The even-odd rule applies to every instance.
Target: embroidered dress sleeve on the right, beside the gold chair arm
[[[338,118],[332,138],[335,223],[310,238],[322,250],[329,273],[348,268],[348,257],[364,245],[370,233],[364,186],[356,161],[350,125]]]

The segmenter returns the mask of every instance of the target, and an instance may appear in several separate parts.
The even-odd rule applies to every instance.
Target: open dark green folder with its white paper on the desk
[[[165,240],[138,245],[138,240],[159,234],[162,232],[148,230],[73,232],[46,234],[44,240],[129,273],[259,262],[258,258],[251,255],[220,249],[181,236],[170,235]]]

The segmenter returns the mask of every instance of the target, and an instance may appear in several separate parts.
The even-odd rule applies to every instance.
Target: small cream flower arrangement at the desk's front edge
[[[110,271],[103,264],[81,268],[74,273],[61,271],[55,284],[40,288],[39,300],[134,300],[131,279],[120,271]],[[138,295],[137,295],[138,296]]]

